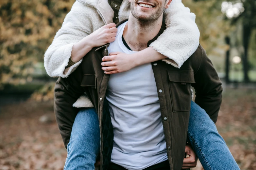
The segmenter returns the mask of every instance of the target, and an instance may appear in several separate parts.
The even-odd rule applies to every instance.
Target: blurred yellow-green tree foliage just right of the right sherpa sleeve
[[[228,46],[223,41],[232,27],[230,21],[223,20],[221,0],[183,0],[182,3],[196,14],[196,24],[200,31],[200,44],[208,54],[223,56],[220,50]]]

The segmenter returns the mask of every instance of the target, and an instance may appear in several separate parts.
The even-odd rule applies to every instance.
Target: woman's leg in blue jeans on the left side
[[[72,127],[64,170],[94,170],[100,152],[100,129],[95,108],[82,108]]]

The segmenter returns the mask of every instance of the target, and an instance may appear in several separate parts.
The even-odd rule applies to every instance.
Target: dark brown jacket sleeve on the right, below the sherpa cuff
[[[195,88],[195,102],[210,116],[214,123],[218,118],[218,112],[222,101],[222,86],[211,60],[207,57],[205,50],[201,47],[201,63],[195,72],[195,82],[191,84]]]

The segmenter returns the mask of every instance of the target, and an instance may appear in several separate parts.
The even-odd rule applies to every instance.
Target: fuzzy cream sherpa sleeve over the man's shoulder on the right
[[[196,15],[181,0],[173,0],[164,14],[166,30],[150,47],[168,57],[163,61],[180,68],[199,45],[200,32],[195,23]]]

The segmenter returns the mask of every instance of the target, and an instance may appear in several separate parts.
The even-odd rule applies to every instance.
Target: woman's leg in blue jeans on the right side
[[[191,101],[188,139],[205,170],[239,169],[209,115]]]

